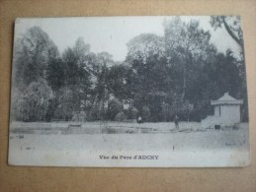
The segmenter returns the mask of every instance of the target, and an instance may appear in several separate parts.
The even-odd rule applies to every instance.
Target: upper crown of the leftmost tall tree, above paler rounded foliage
[[[46,32],[33,27],[17,39],[14,50],[14,86],[24,90],[32,82],[45,78],[49,60],[58,50]]]

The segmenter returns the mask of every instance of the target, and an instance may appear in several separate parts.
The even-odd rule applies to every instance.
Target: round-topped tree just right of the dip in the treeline
[[[142,33],[128,41],[127,62],[131,65],[134,105],[142,111],[150,105],[150,96],[165,92],[168,77],[163,38],[152,33]],[[150,96],[148,95],[150,94]]]

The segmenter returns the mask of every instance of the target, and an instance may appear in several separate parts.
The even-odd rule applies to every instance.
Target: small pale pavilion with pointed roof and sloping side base
[[[225,93],[217,100],[211,100],[211,104],[213,105],[214,113],[202,120],[203,128],[220,129],[233,127],[235,124],[240,123],[242,99],[236,99]]]

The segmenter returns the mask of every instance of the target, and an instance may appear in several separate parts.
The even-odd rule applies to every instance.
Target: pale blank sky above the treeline
[[[83,37],[84,41],[91,45],[92,52],[107,51],[113,55],[114,60],[123,61],[128,53],[127,43],[131,38],[143,32],[163,35],[163,21],[171,18],[171,16],[20,18],[16,20],[15,38],[28,29],[38,26],[47,32],[60,53],[67,47],[73,47],[78,37]],[[231,48],[238,54],[239,47],[234,40],[224,29],[214,31],[209,16],[182,16],[181,19],[185,22],[191,19],[200,21],[200,27],[212,33],[211,41],[219,52]]]

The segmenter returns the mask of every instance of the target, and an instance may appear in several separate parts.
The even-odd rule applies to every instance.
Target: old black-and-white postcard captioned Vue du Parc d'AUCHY
[[[250,162],[239,16],[19,18],[9,164]]]

